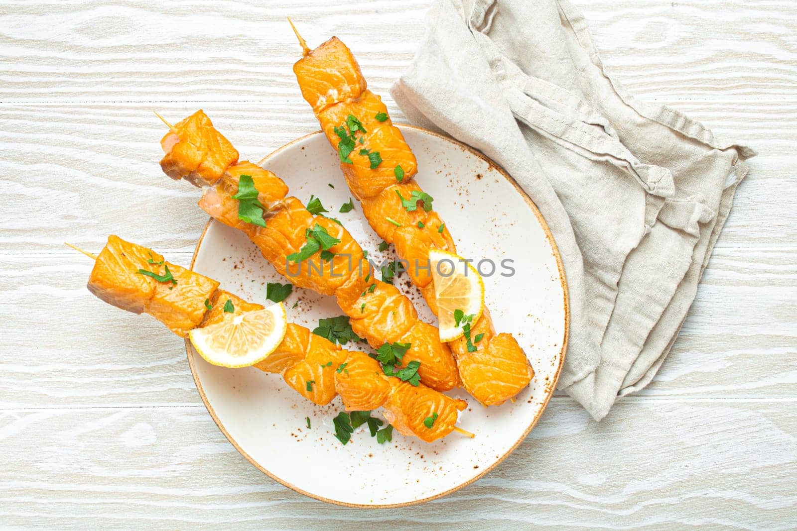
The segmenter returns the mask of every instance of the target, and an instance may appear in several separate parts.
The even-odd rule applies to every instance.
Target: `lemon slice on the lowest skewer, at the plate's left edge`
[[[288,318],[282,303],[265,310],[225,314],[218,324],[194,328],[188,338],[208,363],[222,367],[248,367],[263,361],[285,338]]]

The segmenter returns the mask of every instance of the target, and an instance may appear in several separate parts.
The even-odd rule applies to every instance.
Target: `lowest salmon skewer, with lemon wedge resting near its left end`
[[[214,279],[171,264],[157,252],[119,236],[108,236],[99,255],[77,250],[95,260],[88,291],[112,306],[150,314],[181,338],[194,328],[222,322],[230,313],[224,310],[227,301],[233,304],[233,315],[264,308],[218,289]],[[139,271],[170,279],[161,281]],[[328,404],[340,394],[347,411],[383,407],[388,422],[403,435],[426,442],[451,431],[473,435],[454,425],[458,412],[467,407],[465,400],[450,398],[426,385],[414,387],[387,377],[379,362],[366,353],[342,349],[304,326],[289,323],[280,346],[254,366],[280,374],[285,383],[314,404]],[[310,381],[313,385],[308,385]],[[424,424],[434,413],[434,424]]]

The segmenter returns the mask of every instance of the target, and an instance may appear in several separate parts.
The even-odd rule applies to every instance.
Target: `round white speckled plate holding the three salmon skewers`
[[[532,201],[477,151],[431,131],[401,129],[418,157],[418,184],[434,197],[434,209],[450,228],[457,252],[497,264],[495,274],[484,276],[485,303],[496,330],[515,336],[536,373],[514,403],[485,408],[459,389],[447,394],[468,401],[457,425],[473,431],[473,439],[454,432],[424,443],[394,431],[393,441],[380,445],[361,426],[344,446],[333,435],[332,424],[343,409],[340,398],[317,406],[276,374],[210,365],[186,341],[199,394],[230,443],[285,486],[344,506],[426,502],[488,473],[540,419],[556,388],[567,345],[567,283],[556,244]],[[378,251],[381,239],[367,225],[356,201],[351,212],[337,212],[351,193],[338,156],[320,131],[281,147],[261,166],[284,179],[301,201],[308,201],[311,194],[320,197],[330,215],[339,218],[369,251],[369,258],[395,260],[392,247]],[[513,275],[501,275],[509,273],[501,260],[512,260],[508,265],[515,270]],[[243,233],[215,221],[202,233],[191,268],[257,303],[266,303],[266,283],[285,282]],[[489,273],[487,263],[483,271]],[[436,322],[406,274],[397,285],[413,300],[420,318]],[[332,297],[304,289],[296,289],[285,306],[290,322],[311,330],[319,318],[341,313]],[[367,349],[367,345],[349,343],[346,348]],[[379,412],[375,416],[381,417]],[[310,419],[309,429],[305,417]]]

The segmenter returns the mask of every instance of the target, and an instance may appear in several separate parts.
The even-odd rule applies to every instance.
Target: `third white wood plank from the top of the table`
[[[188,264],[190,254],[167,260]],[[797,397],[795,262],[797,248],[717,249],[681,338],[642,394]],[[183,342],[88,293],[91,267],[71,251],[0,256],[0,291],[14,301],[0,306],[4,346],[33,352],[0,359],[6,407],[201,404]]]

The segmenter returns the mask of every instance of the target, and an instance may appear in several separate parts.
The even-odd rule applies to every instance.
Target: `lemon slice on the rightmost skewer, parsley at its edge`
[[[429,252],[434,282],[434,297],[438,303],[438,329],[440,341],[450,342],[461,338],[465,322],[455,318],[461,310],[463,316],[472,315],[466,322],[476,323],[485,309],[485,283],[476,267],[461,256],[440,249]]]

